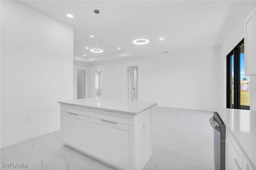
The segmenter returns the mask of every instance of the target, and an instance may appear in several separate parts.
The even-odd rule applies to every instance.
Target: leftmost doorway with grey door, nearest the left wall
[[[84,99],[86,96],[86,75],[85,70],[77,70],[77,99]]]

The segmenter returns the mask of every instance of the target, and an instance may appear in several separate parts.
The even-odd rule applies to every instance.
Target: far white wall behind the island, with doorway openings
[[[102,97],[127,98],[127,67],[138,65],[138,100],[158,106],[215,111],[220,47],[95,63],[102,69]]]

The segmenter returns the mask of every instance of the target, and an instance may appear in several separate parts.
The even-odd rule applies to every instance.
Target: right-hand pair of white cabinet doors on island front
[[[124,169],[134,168],[134,127],[89,118],[89,154]]]

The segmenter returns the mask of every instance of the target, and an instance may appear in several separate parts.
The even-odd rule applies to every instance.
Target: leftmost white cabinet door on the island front
[[[60,112],[60,129],[62,141],[73,145],[73,117],[70,113]]]

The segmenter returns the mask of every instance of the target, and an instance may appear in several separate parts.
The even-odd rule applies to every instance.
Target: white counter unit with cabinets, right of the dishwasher
[[[256,169],[256,111],[217,108],[226,125],[226,170]]]

